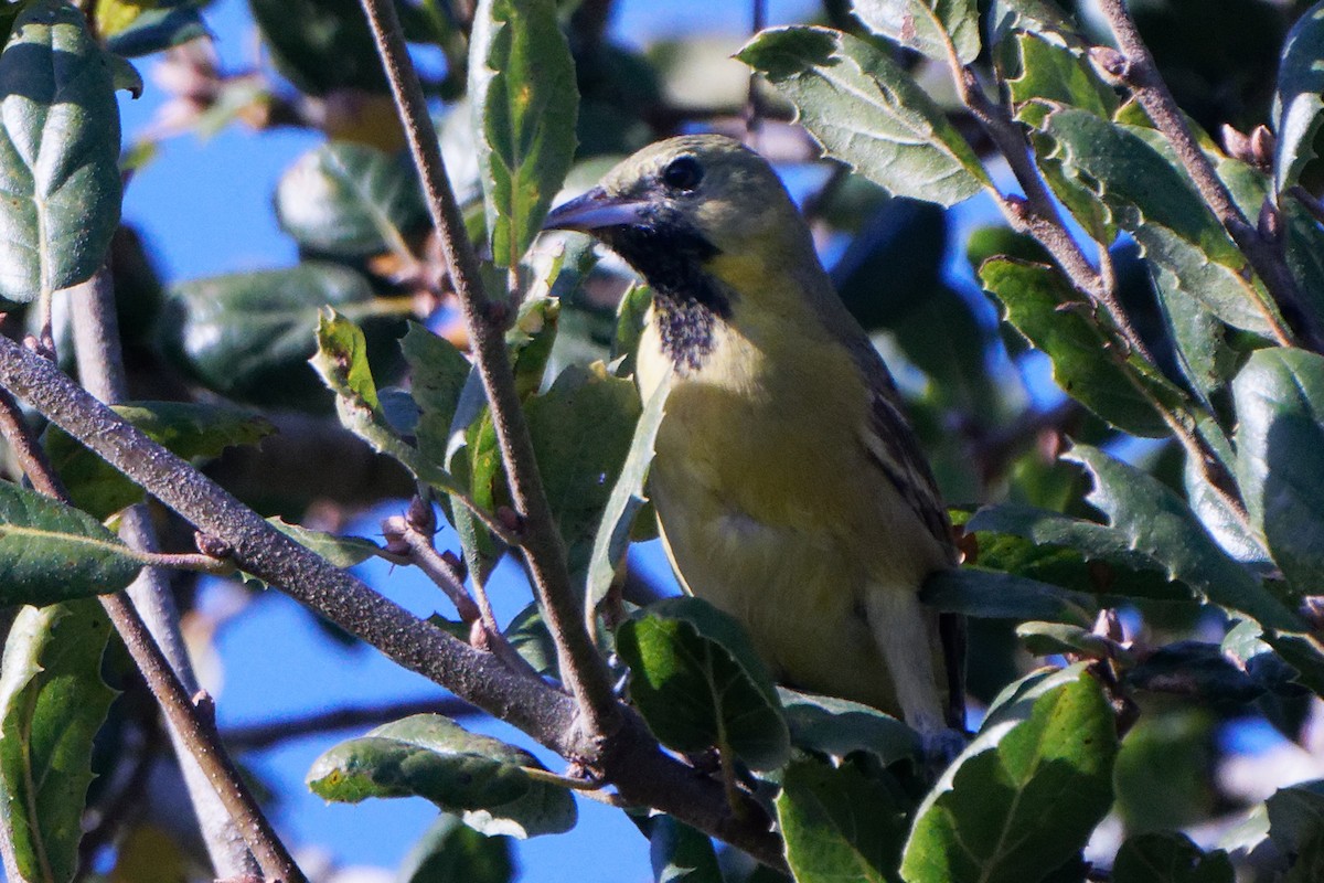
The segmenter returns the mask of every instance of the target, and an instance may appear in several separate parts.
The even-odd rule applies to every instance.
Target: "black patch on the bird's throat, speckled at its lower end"
[[[703,367],[716,323],[731,318],[735,293],[703,269],[720,253],[677,213],[657,209],[641,224],[600,230],[613,252],[653,287],[662,349],[677,371]]]

